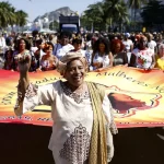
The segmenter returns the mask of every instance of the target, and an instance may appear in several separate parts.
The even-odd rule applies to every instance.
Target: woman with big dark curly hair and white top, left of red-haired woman
[[[109,42],[99,37],[93,49],[90,70],[113,67],[113,55],[109,51]]]

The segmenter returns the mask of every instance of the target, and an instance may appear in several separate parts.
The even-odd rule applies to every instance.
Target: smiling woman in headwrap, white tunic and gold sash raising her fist
[[[36,105],[51,106],[49,149],[56,164],[107,164],[114,154],[112,132],[117,129],[103,86],[84,81],[86,59],[80,52],[67,54],[56,62],[66,81],[43,86],[30,83],[30,56],[17,59],[20,81],[14,112],[21,116]]]

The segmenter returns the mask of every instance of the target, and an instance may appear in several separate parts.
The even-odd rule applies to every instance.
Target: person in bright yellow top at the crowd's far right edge
[[[164,70],[164,44],[160,44],[159,54],[155,56],[156,65],[155,68]]]

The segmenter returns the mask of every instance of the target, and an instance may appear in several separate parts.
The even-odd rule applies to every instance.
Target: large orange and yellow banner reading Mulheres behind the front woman
[[[30,73],[31,81],[43,85],[60,80],[57,71]],[[17,72],[0,70],[0,122],[51,126],[49,106],[37,106],[34,112],[16,117]],[[114,67],[99,72],[89,72],[86,81],[106,86],[119,128],[164,126],[164,72]]]

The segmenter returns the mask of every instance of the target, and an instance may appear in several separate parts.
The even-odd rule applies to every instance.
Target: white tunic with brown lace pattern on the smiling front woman
[[[89,93],[78,96],[61,81],[38,87],[31,84],[24,97],[23,113],[37,105],[51,106],[54,125],[48,148],[52,151],[56,164],[87,163],[93,125]],[[103,110],[110,122],[110,103],[107,95],[103,101]],[[22,112],[15,109],[15,114],[22,115]]]

